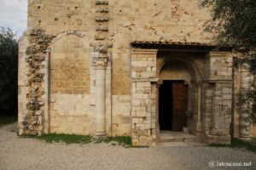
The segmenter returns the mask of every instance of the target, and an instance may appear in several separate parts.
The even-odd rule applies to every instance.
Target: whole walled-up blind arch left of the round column
[[[65,31],[49,43],[49,133],[90,134],[90,41]]]

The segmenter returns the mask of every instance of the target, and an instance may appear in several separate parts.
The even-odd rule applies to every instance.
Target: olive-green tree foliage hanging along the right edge
[[[200,0],[201,6],[210,9],[212,20],[206,31],[216,34],[218,44],[232,47],[243,54],[254,81],[241,91],[241,114],[256,122],[256,1],[255,0]]]

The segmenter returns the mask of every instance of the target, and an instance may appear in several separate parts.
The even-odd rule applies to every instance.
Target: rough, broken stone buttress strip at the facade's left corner
[[[47,48],[51,40],[52,37],[45,35],[44,31],[40,29],[27,31],[26,35],[20,39],[19,68],[23,70],[19,73],[18,85],[21,93],[21,89],[26,89],[19,97],[24,99],[26,96],[26,99],[19,100],[22,103],[19,105],[19,111],[22,111],[19,112],[20,134],[44,132],[44,116],[48,111],[48,88],[45,87],[44,78],[48,74]],[[23,44],[24,41],[26,41],[26,45]],[[23,59],[26,64],[23,63]],[[26,77],[22,77],[25,73]]]

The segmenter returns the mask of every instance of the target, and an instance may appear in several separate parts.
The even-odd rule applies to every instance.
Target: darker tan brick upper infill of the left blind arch
[[[52,45],[51,94],[90,94],[90,48],[85,41],[81,37],[67,35]]]

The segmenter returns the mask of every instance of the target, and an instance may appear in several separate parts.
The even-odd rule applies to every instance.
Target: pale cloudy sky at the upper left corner
[[[0,27],[9,27],[20,37],[27,26],[27,0],[0,0]]]

